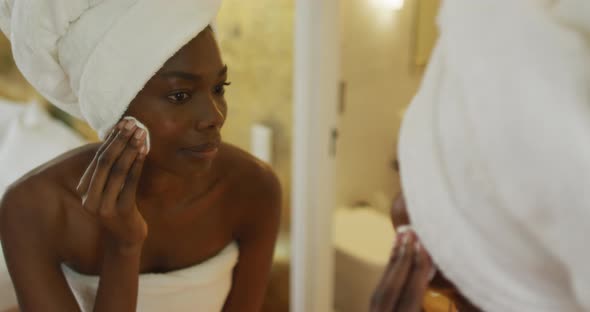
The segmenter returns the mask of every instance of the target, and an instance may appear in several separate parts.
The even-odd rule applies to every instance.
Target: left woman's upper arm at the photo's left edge
[[[0,206],[2,248],[20,311],[80,311],[57,256],[62,231],[53,225],[59,224],[60,213],[55,200],[47,200],[38,189],[11,189]],[[35,209],[39,200],[44,209]]]

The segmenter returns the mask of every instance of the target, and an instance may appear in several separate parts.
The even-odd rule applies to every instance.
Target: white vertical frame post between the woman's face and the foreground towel
[[[291,194],[292,312],[331,312],[339,0],[295,0]]]

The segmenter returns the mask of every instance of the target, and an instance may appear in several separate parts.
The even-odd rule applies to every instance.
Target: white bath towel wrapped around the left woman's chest
[[[237,244],[231,243],[201,264],[162,274],[141,274],[137,311],[221,311],[231,289],[238,253]],[[63,271],[82,311],[92,311],[99,277],[82,275],[66,266]]]

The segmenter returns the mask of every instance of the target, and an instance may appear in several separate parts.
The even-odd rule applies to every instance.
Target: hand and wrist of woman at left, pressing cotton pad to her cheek
[[[86,211],[98,218],[107,246],[117,251],[143,246],[147,224],[137,209],[136,192],[146,157],[146,133],[123,120],[98,149],[77,190]]]

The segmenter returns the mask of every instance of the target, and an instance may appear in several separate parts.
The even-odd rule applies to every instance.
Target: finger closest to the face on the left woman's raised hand
[[[119,195],[131,173],[131,168],[139,155],[140,148],[144,146],[145,135],[143,129],[137,128],[133,137],[127,142],[125,149],[111,167],[100,207],[101,216],[111,217],[117,214]]]

